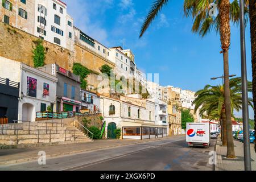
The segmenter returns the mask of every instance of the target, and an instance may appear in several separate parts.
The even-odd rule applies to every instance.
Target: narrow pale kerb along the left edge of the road
[[[175,136],[182,136],[182,135],[173,135],[171,137],[175,137]],[[59,156],[81,154],[83,152],[88,152],[88,151],[97,151],[97,150],[106,149],[106,148],[115,148],[115,147],[119,147],[119,146],[131,145],[131,144],[146,143],[146,142],[151,142],[151,141],[155,141],[155,140],[167,140],[168,138],[171,138],[171,137],[160,138],[160,139],[157,138],[157,139],[151,139],[151,140],[146,140],[146,141],[144,140],[144,141],[139,141],[139,142],[134,142],[134,143],[129,143],[129,144],[127,144],[127,143],[125,143],[125,144],[116,144],[114,146],[97,147],[97,148],[90,148],[90,149],[79,150],[79,151],[63,152],[63,153],[59,153],[59,154],[46,155],[46,158],[51,159],[51,158],[56,158],[56,157],[59,157]],[[38,158],[39,158],[39,156],[32,157],[32,158],[26,158],[26,159],[9,160],[9,161],[5,161],[5,162],[0,162],[0,166],[6,166],[6,165],[9,165],[9,164],[32,162],[32,161],[38,160]]]

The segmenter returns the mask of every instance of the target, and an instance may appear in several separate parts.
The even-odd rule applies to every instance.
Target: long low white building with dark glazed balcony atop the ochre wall
[[[97,42],[97,40],[90,38],[90,36],[86,35],[84,32],[79,30],[79,28],[73,28],[75,32],[75,42],[85,46],[86,48],[90,49],[91,51],[97,53],[98,55],[104,57],[105,59],[110,59],[110,49],[106,46],[102,45],[101,43]],[[114,61],[113,61],[114,63]]]

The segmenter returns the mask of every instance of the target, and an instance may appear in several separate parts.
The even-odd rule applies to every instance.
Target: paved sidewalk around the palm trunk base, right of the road
[[[226,158],[226,147],[221,146],[221,140],[218,139],[216,145],[217,152],[217,164],[215,166],[216,171],[244,171],[243,163],[243,143],[234,139],[234,150],[236,152],[237,159]],[[251,170],[256,171],[256,153],[254,151],[254,143],[251,143]]]

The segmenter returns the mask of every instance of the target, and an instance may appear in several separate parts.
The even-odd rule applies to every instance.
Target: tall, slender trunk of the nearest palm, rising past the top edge
[[[230,46],[230,3],[229,0],[220,2],[220,37],[221,48],[224,59],[224,82],[225,82],[225,112],[226,112],[226,140],[227,140],[227,158],[236,158],[234,152],[234,142],[232,135],[231,121],[231,102],[229,89],[229,46]],[[224,131],[225,132],[225,131]]]

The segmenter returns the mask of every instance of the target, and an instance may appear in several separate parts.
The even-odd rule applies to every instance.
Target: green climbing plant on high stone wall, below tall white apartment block
[[[32,51],[32,53],[34,54],[33,57],[33,61],[34,61],[34,67],[38,68],[38,67],[43,67],[44,66],[44,60],[46,59],[46,53],[44,52],[44,46],[43,46],[43,40],[38,39],[33,41],[35,44],[35,48]]]

